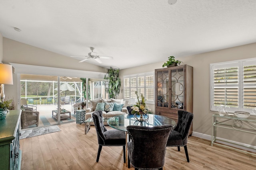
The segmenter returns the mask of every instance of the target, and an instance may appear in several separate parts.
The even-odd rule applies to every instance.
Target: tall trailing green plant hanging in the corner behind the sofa
[[[103,84],[105,86],[105,92],[108,93],[109,98],[116,98],[116,95],[120,93],[121,87],[119,69],[113,69],[110,67],[107,74],[104,76]]]

